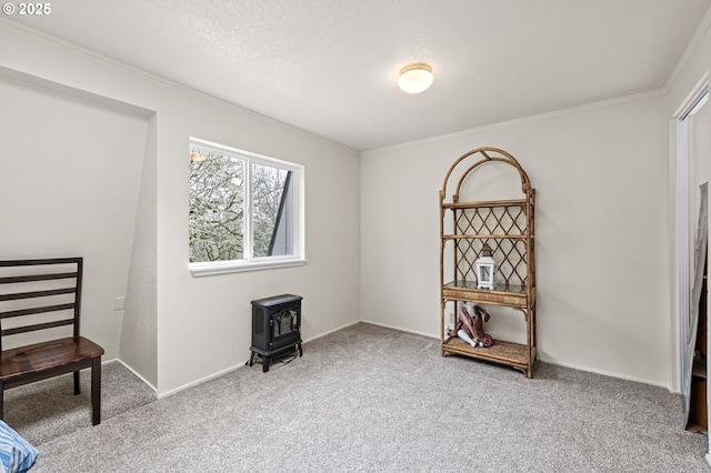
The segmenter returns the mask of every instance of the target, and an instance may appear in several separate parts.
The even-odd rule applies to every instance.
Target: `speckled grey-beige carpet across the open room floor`
[[[34,473],[711,471],[679,395],[542,363],[534,375],[361,323],[268,373],[242,368],[43,441]]]

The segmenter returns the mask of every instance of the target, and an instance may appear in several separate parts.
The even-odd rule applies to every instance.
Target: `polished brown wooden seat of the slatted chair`
[[[0,380],[9,381],[30,373],[66,366],[103,355],[103,349],[83,336],[69,336],[18,346],[2,352]]]

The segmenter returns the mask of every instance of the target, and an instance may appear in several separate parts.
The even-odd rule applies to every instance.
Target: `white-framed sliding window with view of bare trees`
[[[303,168],[190,139],[194,275],[303,264]]]

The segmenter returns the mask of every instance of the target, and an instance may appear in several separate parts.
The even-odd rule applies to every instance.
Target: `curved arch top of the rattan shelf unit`
[[[470,164],[470,162],[472,161],[473,163]],[[449,171],[447,172],[447,175],[444,177],[444,182],[442,183],[442,190],[440,191],[441,200],[444,201],[447,199],[448,189],[450,189],[450,187],[454,184],[453,181],[457,179],[457,177],[459,177],[459,179],[455,181],[454,192],[451,194],[452,195],[451,202],[459,203],[459,197],[462,190],[462,184],[467,180],[467,178],[472,175],[474,171],[477,171],[482,165],[493,163],[493,162],[501,162],[514,168],[515,171],[519,173],[519,178],[521,180],[521,192],[527,198],[529,195],[530,197],[533,195],[534,191],[531,188],[531,181],[529,180],[529,177],[523,170],[523,168],[521,168],[521,164],[519,164],[519,161],[517,161],[517,159],[513,158],[513,155],[511,155],[509,152],[499,148],[483,147],[483,148],[477,148],[474,150],[471,150],[462,154],[450,167]],[[459,168],[461,168],[462,171],[454,174],[454,171],[458,170]]]

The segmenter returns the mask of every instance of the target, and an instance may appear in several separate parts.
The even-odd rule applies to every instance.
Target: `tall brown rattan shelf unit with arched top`
[[[523,198],[478,201],[461,195],[477,172],[490,163],[504,163],[521,179]],[[535,190],[519,162],[497,148],[478,148],[461,155],[449,169],[440,191],[441,354],[458,354],[513,366],[533,374],[535,360]],[[474,261],[483,246],[497,261],[494,288],[477,289]],[[453,273],[445,278],[445,271]],[[519,310],[525,320],[525,343],[497,340],[489,348],[472,348],[444,333],[448,303],[473,302]]]

